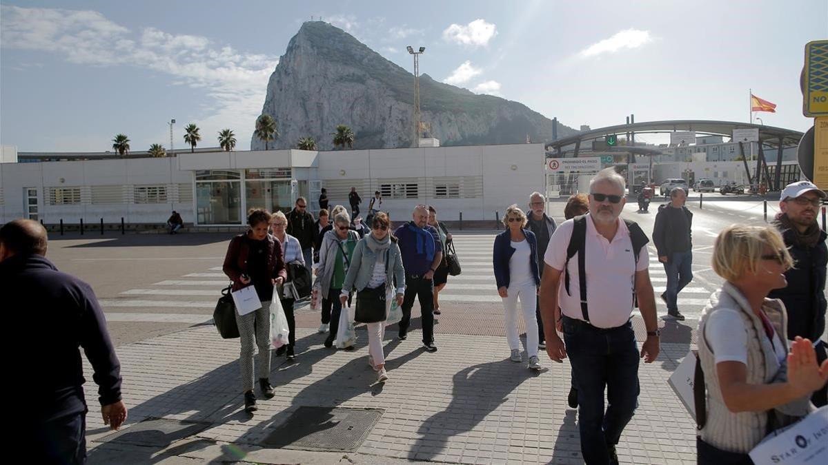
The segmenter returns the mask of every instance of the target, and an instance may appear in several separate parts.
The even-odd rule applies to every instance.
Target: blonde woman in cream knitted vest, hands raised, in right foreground
[[[734,224],[716,237],[713,271],[726,282],[710,295],[699,321],[707,389],[705,409],[697,413],[698,463],[753,463],[750,450],[768,431],[813,410],[811,392],[828,381],[828,361],[817,365],[811,341],[797,337],[788,353],[785,306],[767,298],[787,285],[791,266],[771,226]]]

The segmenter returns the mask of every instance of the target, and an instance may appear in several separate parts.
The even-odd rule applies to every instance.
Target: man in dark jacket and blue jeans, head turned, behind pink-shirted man
[[[662,300],[667,304],[667,314],[680,320],[684,315],[678,311],[678,293],[693,280],[693,213],[684,206],[686,200],[685,190],[674,187],[670,191],[670,203],[658,207],[652,229],[658,261],[664,264],[667,273],[667,290],[662,293]]]

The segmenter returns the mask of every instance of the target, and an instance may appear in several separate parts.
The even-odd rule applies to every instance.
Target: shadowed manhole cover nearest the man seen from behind
[[[199,434],[209,423],[179,421],[176,419],[145,419],[127,429],[99,439],[99,443],[122,443],[136,446],[164,448],[180,439]]]

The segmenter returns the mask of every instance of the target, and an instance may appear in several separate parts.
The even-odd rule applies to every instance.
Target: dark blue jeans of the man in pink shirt
[[[639,354],[633,324],[601,329],[565,316],[563,329],[566,353],[578,380],[580,452],[587,465],[605,465],[608,446],[619,442],[638,407]]]

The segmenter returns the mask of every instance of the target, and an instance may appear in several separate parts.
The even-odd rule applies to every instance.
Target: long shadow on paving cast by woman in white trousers
[[[445,449],[450,436],[474,429],[489,413],[508,402],[509,394],[517,386],[538,374],[508,359],[480,363],[455,373],[450,404],[420,425],[420,438],[409,449],[408,459],[431,461]]]

